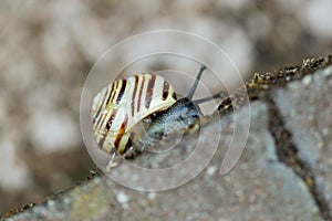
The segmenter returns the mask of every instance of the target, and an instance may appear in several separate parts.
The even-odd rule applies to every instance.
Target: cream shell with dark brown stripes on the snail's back
[[[133,127],[174,103],[174,88],[162,76],[141,74],[115,81],[93,99],[94,138],[104,151],[115,147],[118,154],[125,154],[135,139]]]

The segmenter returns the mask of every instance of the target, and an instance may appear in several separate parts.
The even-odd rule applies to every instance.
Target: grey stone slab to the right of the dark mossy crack
[[[332,208],[332,66],[274,91],[272,97],[292,134],[299,156],[314,172]]]

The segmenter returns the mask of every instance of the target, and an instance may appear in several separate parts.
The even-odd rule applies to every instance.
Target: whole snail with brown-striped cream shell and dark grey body
[[[133,158],[147,146],[195,125],[203,115],[198,104],[224,96],[221,92],[191,101],[205,70],[201,65],[188,95],[180,99],[164,77],[149,73],[117,80],[101,90],[93,99],[91,116],[95,141],[112,155],[108,166],[115,151]],[[145,133],[135,129],[141,123]]]

